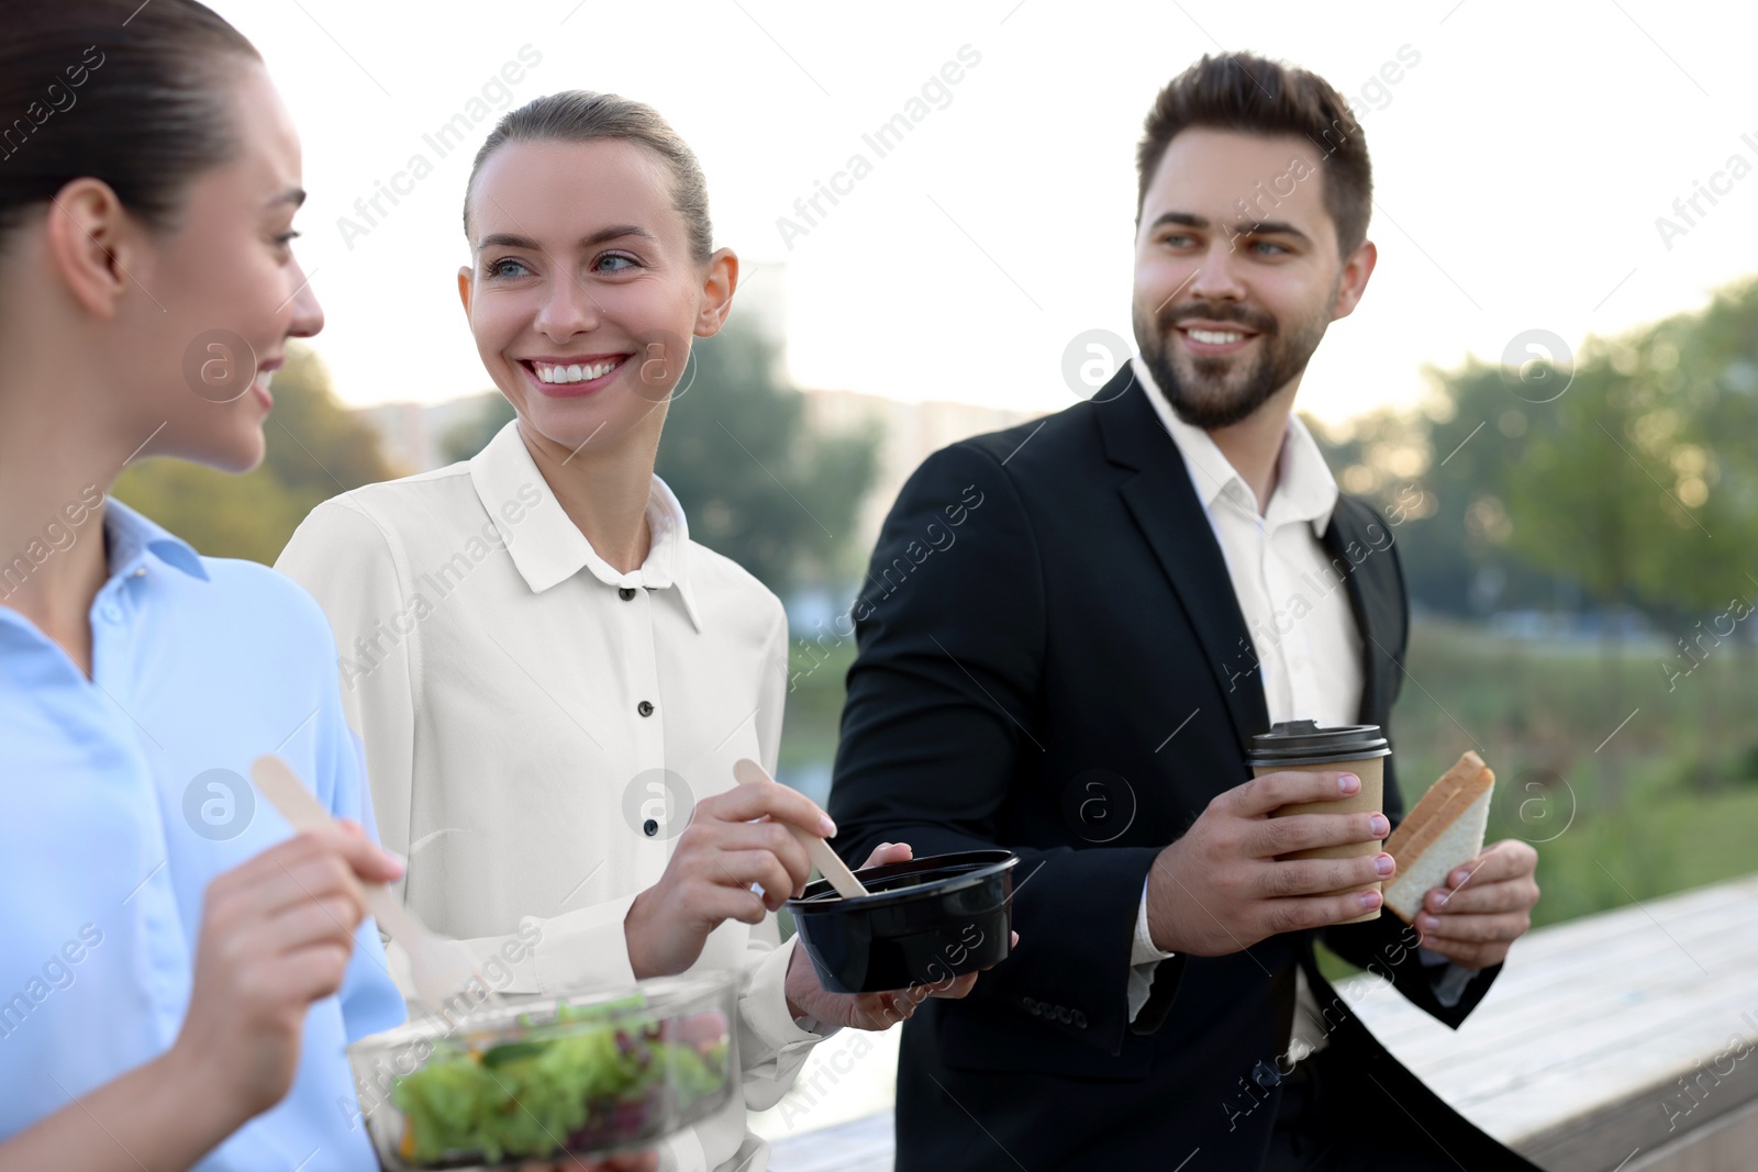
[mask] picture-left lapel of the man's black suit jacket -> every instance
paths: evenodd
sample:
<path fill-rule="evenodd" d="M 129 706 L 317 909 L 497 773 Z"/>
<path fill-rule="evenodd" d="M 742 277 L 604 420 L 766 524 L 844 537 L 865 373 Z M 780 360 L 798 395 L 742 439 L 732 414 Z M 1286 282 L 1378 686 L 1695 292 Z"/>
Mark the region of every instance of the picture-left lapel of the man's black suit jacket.
<path fill-rule="evenodd" d="M 1269 731 L 1269 706 L 1227 561 L 1190 483 L 1183 453 L 1129 365 L 1093 395 L 1093 409 L 1106 455 L 1136 473 L 1118 490 L 1202 643 L 1202 657 L 1243 752 L 1253 734 Z"/>

